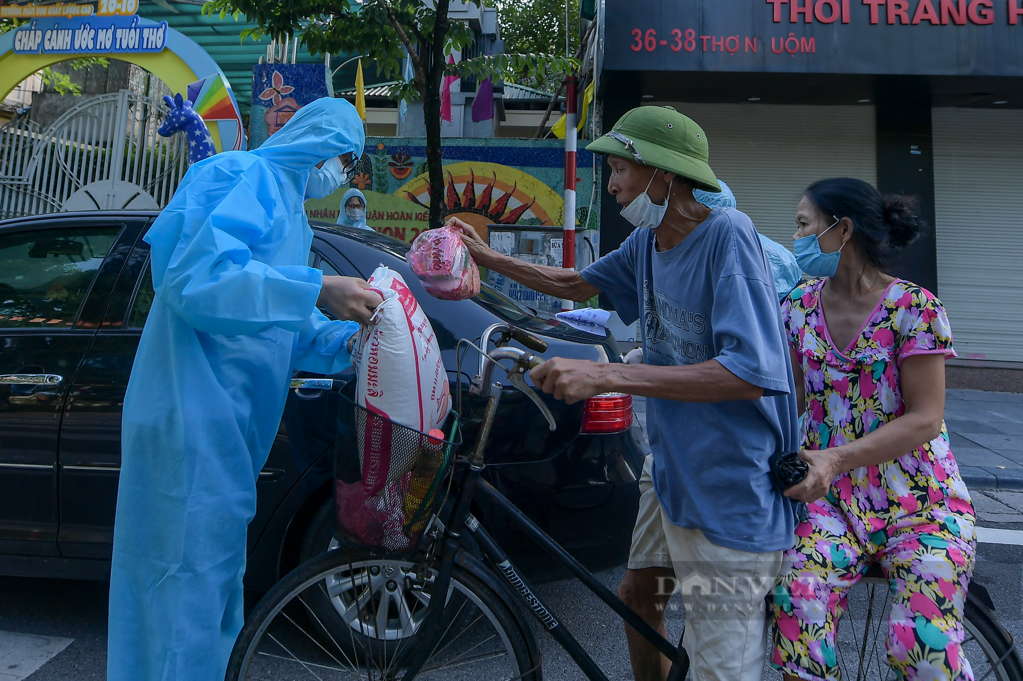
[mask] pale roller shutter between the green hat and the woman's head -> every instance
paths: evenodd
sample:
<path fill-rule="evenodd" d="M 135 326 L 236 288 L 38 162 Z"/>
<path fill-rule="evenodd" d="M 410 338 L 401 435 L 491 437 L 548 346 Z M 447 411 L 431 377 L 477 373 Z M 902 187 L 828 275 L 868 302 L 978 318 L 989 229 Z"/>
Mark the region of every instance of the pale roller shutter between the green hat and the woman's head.
<path fill-rule="evenodd" d="M 757 231 L 792 248 L 808 184 L 848 176 L 877 186 L 874 106 L 671 103 L 700 124 L 710 166 Z"/>

